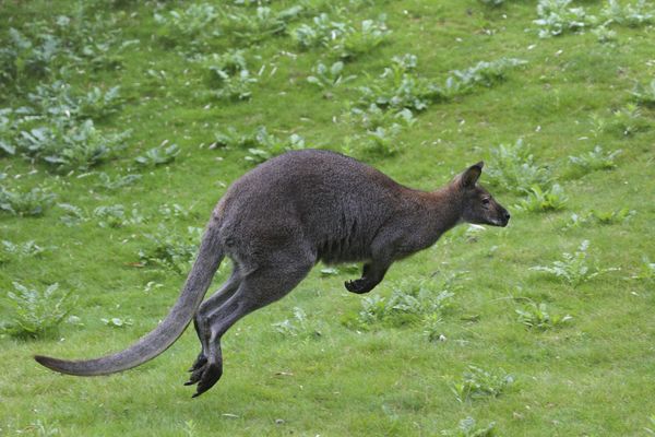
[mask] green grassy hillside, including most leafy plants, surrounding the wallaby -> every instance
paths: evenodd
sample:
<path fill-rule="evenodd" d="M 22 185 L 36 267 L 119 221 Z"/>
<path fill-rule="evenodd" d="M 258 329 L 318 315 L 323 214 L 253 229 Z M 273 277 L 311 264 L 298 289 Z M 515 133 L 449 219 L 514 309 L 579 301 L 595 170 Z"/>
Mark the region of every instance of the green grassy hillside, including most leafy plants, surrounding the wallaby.
<path fill-rule="evenodd" d="M 74 303 L 49 335 L 0 334 L 0 435 L 648 435 L 655 28 L 648 11 L 628 15 L 634 2 L 594 0 L 561 16 L 584 8 L 600 21 L 560 33 L 535 23 L 537 3 L 0 2 L 0 324 L 13 320 L 14 282 L 57 283 Z M 314 20 L 322 13 L 329 21 Z M 309 38 L 309 27 L 329 32 L 303 47 L 295 35 Z M 410 63 L 405 76 L 381 79 L 392 59 Z M 501 59 L 525 63 L 489 70 Z M 319 64 L 331 69 L 324 86 L 308 82 Z M 371 84 L 384 94 L 362 94 Z M 61 141 L 20 133 L 44 127 Z M 148 332 L 226 187 L 266 156 L 310 146 L 347 150 L 420 189 L 485 160 L 481 182 L 512 221 L 451 231 L 369 296 L 343 288 L 357 270 L 317 267 L 226 334 L 223 380 L 198 400 L 182 386 L 192 330 L 115 376 L 34 363 L 118 351 Z M 561 208 L 512 206 L 556 184 Z M 577 265 L 585 240 L 591 272 L 603 274 L 572 286 L 531 270 Z M 225 262 L 215 287 L 228 272 Z M 453 275 L 438 310 L 425 308 L 444 287 L 398 292 Z M 352 323 L 376 302 L 382 322 Z M 458 402 L 452 391 L 508 375 L 500 395 Z"/>

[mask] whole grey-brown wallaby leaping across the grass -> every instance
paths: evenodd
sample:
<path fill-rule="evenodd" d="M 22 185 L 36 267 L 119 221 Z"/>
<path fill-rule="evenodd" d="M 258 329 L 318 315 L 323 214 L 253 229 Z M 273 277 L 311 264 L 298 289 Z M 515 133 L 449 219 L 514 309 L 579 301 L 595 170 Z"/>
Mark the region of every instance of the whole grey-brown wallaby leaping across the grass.
<path fill-rule="evenodd" d="M 382 281 L 394 261 L 430 247 L 458 223 L 507 226 L 509 212 L 477 185 L 483 165 L 427 192 L 334 152 L 302 150 L 274 157 L 237 179 L 218 201 L 178 300 L 151 333 L 96 359 L 35 359 L 78 376 L 126 370 L 163 353 L 193 319 L 202 349 L 186 385 L 196 385 L 195 398 L 223 375 L 223 334 L 288 294 L 317 262 L 364 262 L 361 277 L 344 284 L 362 294 Z M 231 274 L 203 303 L 224 257 L 233 261 Z"/>

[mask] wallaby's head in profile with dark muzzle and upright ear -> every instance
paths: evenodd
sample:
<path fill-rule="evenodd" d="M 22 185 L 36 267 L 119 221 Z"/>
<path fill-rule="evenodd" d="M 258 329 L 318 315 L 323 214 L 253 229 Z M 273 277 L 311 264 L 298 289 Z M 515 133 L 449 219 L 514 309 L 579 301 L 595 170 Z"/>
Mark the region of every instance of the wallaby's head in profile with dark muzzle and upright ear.
<path fill-rule="evenodd" d="M 477 181 L 485 163 L 468 167 L 451 182 L 462 198 L 462 220 L 476 225 L 507 226 L 510 213 Z"/>

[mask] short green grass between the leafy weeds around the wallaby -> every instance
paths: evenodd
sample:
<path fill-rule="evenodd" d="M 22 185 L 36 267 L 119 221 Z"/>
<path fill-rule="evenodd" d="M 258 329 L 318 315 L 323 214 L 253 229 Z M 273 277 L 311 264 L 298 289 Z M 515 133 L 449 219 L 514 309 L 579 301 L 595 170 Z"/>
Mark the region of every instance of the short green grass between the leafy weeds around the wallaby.
<path fill-rule="evenodd" d="M 5 1 L 0 3 L 0 21 L 21 27 L 37 17 L 66 13 L 74 2 L 70 3 Z M 634 80 L 653 78 L 653 29 L 621 27 L 614 45 L 600 45 L 591 34 L 544 40 L 532 29 L 525 32 L 535 19 L 532 1 L 508 1 L 499 10 L 473 0 L 433 3 L 390 1 L 355 11 L 360 17 L 385 12 L 394 33 L 386 45 L 348 64 L 347 71 L 377 74 L 392 56 L 404 52 L 418 56 L 422 74 L 439 78 L 502 56 L 529 63 L 499 86 L 431 106 L 403 134 L 408 145 L 403 154 L 365 158 L 404 184 L 429 189 L 465 165 L 488 158 L 490 146 L 522 137 L 570 197 L 560 213 L 512 210 L 514 218 L 507 229 L 487 229 L 473 243 L 455 236 L 392 268 L 373 293 L 388 295 L 390 283 L 406 277 L 467 272 L 463 290 L 443 316 L 448 341 L 428 343 L 420 326 L 364 333 L 344 327 L 341 320 L 360 308 L 360 298 L 342 286 L 352 274 L 322 277 L 317 269 L 287 298 L 249 316 L 226 335 L 224 379 L 199 400 L 191 401 L 190 390 L 181 386 L 196 353 L 192 331 L 158 359 L 117 376 L 76 379 L 37 367 L 29 358 L 36 352 L 81 357 L 119 350 L 167 311 L 183 277 L 129 264 L 138 260 L 143 234 L 159 223 L 156 212 L 162 203 L 193 205 L 190 217 L 168 222 L 169 226 L 203 226 L 224 184 L 247 170 L 242 151 L 199 147 L 213 141 L 213 132 L 227 126 L 265 125 L 277 134 L 298 132 L 310 144 L 335 149 L 352 132 L 345 123 L 332 122 L 352 90 L 335 91 L 334 98 L 324 99 L 305 83 L 320 52 L 299 54 L 293 60 L 279 55 L 283 49 L 298 51 L 288 37 L 269 39 L 253 51 L 261 55 L 261 62 L 276 64 L 276 74 L 254 87 L 249 103 L 212 102 L 194 95 L 207 86 L 203 73 L 151 37 L 156 32 L 152 4 L 127 7 L 126 12 L 112 9 L 111 13 L 122 14 L 124 38 L 139 38 L 141 44 L 123 54 L 120 71 L 75 79 L 81 88 L 120 84 L 128 97 L 122 111 L 104 127 L 133 129 L 131 146 L 102 170 L 124 174 L 133 167 L 134 156 L 164 140 L 178 143 L 182 154 L 170 166 L 145 172 L 135 186 L 114 193 L 94 190 L 90 179 L 55 178 L 41 166 L 34 167 L 38 170 L 34 175 L 3 181 L 10 187 L 47 182 L 62 202 L 90 209 L 135 204 L 154 217 L 147 224 L 107 229 L 94 223 L 63 226 L 57 209 L 40 218 L 0 216 L 3 239 L 34 239 L 57 247 L 41 259 L 1 264 L 0 285 L 10 290 L 12 281 L 59 282 L 78 296 L 73 314 L 85 324 L 64 324 L 61 341 L 0 338 L 4 370 L 0 433 L 37 433 L 31 424 L 40 421 L 61 435 L 183 435 L 194 428 L 195 435 L 428 436 L 471 415 L 483 424 L 496 421 L 499 434 L 508 436 L 644 434 L 655 413 L 655 299 L 652 283 L 624 277 L 638 271 L 642 256 L 655 258 L 647 238 L 655 217 L 655 131 L 632 138 L 603 133 L 596 141 L 581 138 L 591 137 L 592 115 L 608 117 L 609 110 L 628 102 L 626 91 Z M 599 2 L 584 4 L 597 8 Z M 145 76 L 147 69 L 165 70 L 168 79 L 156 83 Z M 355 84 L 362 83 L 360 74 Z M 644 114 L 653 118 L 652 111 Z M 568 156 L 588 151 L 596 142 L 624 151 L 618 168 L 567 177 Z M 2 168 L 9 175 L 24 175 L 33 167 L 19 158 L 3 158 Z M 517 201 L 503 192 L 497 198 L 510 206 Z M 562 221 L 572 212 L 623 206 L 636 211 L 626 224 L 561 232 Z M 592 257 L 600 265 L 621 271 L 573 290 L 528 270 L 559 259 L 583 239 L 592 241 Z M 498 249 L 490 252 L 495 246 Z M 146 294 L 148 281 L 164 286 Z M 574 319 L 569 327 L 543 333 L 526 330 L 516 321 L 514 309 L 521 300 L 513 296 L 547 302 Z M 320 324 L 321 338 L 285 338 L 274 331 L 271 324 L 291 317 L 294 307 Z M 467 321 L 472 315 L 477 316 L 475 321 Z M 131 318 L 134 324 L 111 329 L 100 321 L 107 316 Z M 497 399 L 458 403 L 446 380 L 471 364 L 504 369 L 516 383 Z M 278 418 L 284 423 L 275 424 Z"/>

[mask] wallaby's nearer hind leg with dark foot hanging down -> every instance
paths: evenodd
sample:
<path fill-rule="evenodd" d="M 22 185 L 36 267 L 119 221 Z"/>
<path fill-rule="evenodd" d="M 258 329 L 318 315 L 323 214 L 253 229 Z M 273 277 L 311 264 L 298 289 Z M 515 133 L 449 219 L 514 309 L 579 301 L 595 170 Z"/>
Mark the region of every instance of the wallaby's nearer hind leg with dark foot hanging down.
<path fill-rule="evenodd" d="M 206 314 L 201 323 L 210 327 L 206 362 L 196 368 L 187 385 L 198 382 L 193 397 L 211 389 L 223 375 L 223 354 L 221 338 L 240 318 L 262 308 L 289 293 L 311 270 L 315 259 L 296 260 L 295 263 L 285 260 L 279 267 L 260 268 L 239 284 L 237 292 L 222 306 Z M 209 309 L 209 308 L 205 308 Z"/>

